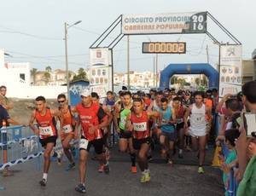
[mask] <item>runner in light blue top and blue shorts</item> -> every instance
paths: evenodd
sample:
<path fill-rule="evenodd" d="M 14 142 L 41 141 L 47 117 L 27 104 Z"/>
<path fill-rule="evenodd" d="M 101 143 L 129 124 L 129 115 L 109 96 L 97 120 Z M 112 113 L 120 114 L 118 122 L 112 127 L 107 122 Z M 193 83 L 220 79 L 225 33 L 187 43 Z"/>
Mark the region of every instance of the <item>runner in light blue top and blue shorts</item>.
<path fill-rule="evenodd" d="M 175 112 L 172 110 L 172 107 L 168 106 L 168 100 L 162 98 L 159 124 L 161 153 L 162 157 L 166 159 L 166 162 L 171 165 L 174 144 L 177 140 L 177 132 L 174 124 L 176 124 Z"/>

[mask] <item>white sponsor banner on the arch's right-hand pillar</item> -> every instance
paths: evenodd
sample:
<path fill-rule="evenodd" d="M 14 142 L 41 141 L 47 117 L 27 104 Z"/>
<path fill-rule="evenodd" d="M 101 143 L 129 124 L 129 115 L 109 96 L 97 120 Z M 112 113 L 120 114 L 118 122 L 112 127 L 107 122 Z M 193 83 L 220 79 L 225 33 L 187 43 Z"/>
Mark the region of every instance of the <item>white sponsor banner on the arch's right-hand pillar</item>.
<path fill-rule="evenodd" d="M 220 46 L 219 96 L 241 91 L 241 45 Z"/>

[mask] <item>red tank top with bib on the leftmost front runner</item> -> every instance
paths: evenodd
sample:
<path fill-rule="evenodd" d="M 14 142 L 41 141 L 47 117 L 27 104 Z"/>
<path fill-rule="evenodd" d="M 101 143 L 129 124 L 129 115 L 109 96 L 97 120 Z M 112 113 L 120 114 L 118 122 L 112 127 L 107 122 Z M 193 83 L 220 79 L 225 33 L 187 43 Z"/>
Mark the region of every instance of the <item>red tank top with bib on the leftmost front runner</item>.
<path fill-rule="evenodd" d="M 57 135 L 53 116 L 51 115 L 49 108 L 46 108 L 46 112 L 45 112 L 44 116 L 42 116 L 40 114 L 40 112 L 38 112 L 38 110 L 36 110 L 35 118 L 38 123 L 40 139 L 46 139 L 49 136 Z"/>

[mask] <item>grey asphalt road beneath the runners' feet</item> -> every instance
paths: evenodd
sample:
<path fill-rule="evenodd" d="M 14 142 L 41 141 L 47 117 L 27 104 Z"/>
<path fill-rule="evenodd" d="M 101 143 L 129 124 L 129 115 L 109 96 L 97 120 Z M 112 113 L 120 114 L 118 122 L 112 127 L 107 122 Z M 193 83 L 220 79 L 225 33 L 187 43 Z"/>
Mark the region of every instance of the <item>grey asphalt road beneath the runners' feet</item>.
<path fill-rule="evenodd" d="M 207 152 L 205 174 L 197 173 L 197 159 L 195 153 L 184 153 L 184 159 L 174 159 L 170 167 L 160 159 L 158 152 L 154 154 L 153 163 L 149 164 L 151 182 L 141 184 L 140 172 L 131 174 L 129 158 L 117 150 L 112 151 L 110 160 L 111 171 L 109 175 L 97 172 L 98 164 L 90 160 L 86 175 L 86 195 L 90 196 L 165 196 L 165 195 L 195 195 L 218 196 L 224 195 L 221 173 L 209 164 L 212 151 Z M 0 191 L 2 196 L 64 196 L 82 195 L 76 193 L 74 187 L 78 183 L 78 167 L 66 171 L 67 162 L 62 165 L 53 162 L 50 166 L 48 183 L 40 187 L 38 182 L 42 178 L 42 171 L 37 170 L 36 161 L 19 164 L 12 168 L 15 176 L 0 176 L 0 186 L 5 190 Z"/>

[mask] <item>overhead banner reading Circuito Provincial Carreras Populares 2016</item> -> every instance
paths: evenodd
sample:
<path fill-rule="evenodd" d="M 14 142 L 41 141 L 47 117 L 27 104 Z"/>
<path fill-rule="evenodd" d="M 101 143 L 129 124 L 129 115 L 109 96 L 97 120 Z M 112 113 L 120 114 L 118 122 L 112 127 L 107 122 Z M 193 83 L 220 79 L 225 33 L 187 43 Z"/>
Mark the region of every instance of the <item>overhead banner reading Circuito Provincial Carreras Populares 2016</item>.
<path fill-rule="evenodd" d="M 207 32 L 207 12 L 125 14 L 122 16 L 123 34 L 204 32 Z"/>

